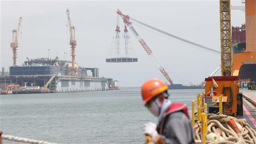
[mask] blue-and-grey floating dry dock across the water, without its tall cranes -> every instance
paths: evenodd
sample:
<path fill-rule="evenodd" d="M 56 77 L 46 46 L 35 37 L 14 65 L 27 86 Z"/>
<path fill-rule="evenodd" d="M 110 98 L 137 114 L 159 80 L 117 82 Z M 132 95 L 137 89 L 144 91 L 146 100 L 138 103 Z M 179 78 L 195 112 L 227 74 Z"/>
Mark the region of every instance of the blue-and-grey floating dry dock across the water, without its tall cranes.
<path fill-rule="evenodd" d="M 79 67 L 75 63 L 76 71 L 70 69 L 71 61 L 38 58 L 27 59 L 21 66 L 11 66 L 10 74 L 1 77 L 0 85 L 8 87 L 9 84 L 20 85 L 20 90 L 14 93 L 25 93 L 22 87 L 39 86 L 38 93 L 76 92 L 76 91 L 105 91 L 119 89 L 118 83 L 111 78 L 99 77 L 99 69 Z"/>

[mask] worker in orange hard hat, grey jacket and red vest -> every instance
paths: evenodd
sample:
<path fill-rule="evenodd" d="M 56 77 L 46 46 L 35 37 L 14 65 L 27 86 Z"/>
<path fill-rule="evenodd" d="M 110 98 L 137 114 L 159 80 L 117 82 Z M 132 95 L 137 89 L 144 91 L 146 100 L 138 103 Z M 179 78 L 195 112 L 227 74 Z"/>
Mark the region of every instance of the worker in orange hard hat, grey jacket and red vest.
<path fill-rule="evenodd" d="M 159 119 L 158 126 L 152 122 L 144 124 L 144 134 L 151 136 L 150 144 L 193 144 L 194 128 L 188 107 L 183 103 L 172 103 L 167 90 L 159 79 L 150 79 L 142 85 L 143 102 Z"/>

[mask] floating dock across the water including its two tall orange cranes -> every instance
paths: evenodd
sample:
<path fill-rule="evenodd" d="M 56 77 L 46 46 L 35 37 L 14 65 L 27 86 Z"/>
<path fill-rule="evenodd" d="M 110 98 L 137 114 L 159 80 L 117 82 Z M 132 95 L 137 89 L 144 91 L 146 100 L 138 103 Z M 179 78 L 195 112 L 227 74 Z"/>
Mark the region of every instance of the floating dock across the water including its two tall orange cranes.
<path fill-rule="evenodd" d="M 72 61 L 47 58 L 29 59 L 22 65 L 16 65 L 18 39 L 21 30 L 22 17 L 19 19 L 17 29 L 12 30 L 13 66 L 9 67 L 6 75 L 2 67 L 0 80 L 1 94 L 21 93 L 55 93 L 79 91 L 105 91 L 120 89 L 118 81 L 111 78 L 99 77 L 99 68 L 79 67 L 75 63 L 75 27 L 71 25 L 69 10 L 66 10 L 70 30 L 70 45 Z M 91 71 L 92 75 L 88 75 Z M 116 85 L 115 85 L 116 84 Z"/>

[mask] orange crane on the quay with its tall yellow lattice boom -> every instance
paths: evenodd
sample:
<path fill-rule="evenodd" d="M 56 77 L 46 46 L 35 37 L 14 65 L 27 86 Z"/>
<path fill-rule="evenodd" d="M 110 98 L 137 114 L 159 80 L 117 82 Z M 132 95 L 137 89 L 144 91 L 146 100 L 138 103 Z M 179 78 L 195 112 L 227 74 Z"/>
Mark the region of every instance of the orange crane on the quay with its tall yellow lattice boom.
<path fill-rule="evenodd" d="M 208 112 L 218 112 L 218 103 L 212 105 L 219 96 L 223 96 L 223 110 L 227 115 L 243 115 L 242 94 L 239 93 L 238 76 L 233 76 L 232 43 L 231 43 L 231 15 L 230 0 L 220 0 L 220 53 L 221 76 L 205 79 L 205 93 L 202 103 L 207 103 Z M 205 100 L 212 99 L 212 101 Z M 217 101 L 218 102 L 218 101 Z"/>

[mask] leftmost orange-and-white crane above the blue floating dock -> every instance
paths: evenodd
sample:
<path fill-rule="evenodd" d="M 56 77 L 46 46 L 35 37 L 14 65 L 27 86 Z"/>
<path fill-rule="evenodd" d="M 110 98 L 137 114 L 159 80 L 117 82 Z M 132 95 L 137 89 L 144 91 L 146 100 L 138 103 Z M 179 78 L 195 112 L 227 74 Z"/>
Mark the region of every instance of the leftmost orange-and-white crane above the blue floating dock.
<path fill-rule="evenodd" d="M 21 21 L 22 21 L 22 17 L 20 17 L 20 19 L 19 19 L 18 27 L 16 29 L 12 30 L 11 47 L 12 47 L 12 51 L 13 51 L 13 66 L 16 66 L 17 47 L 18 47 L 19 34 L 20 34 L 20 30 L 21 30 Z"/>

